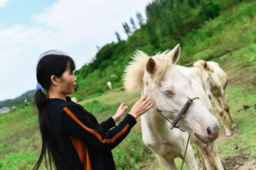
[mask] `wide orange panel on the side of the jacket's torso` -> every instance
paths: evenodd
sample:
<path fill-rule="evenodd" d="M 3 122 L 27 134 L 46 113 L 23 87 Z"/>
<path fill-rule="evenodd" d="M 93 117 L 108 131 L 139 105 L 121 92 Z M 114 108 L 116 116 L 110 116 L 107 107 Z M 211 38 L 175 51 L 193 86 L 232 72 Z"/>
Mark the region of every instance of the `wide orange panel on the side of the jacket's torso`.
<path fill-rule="evenodd" d="M 92 170 L 92 166 L 90 164 L 90 159 L 89 155 L 87 152 L 87 147 L 85 145 L 85 142 L 82 142 L 76 137 L 70 136 L 70 139 L 73 142 L 73 145 L 78 152 L 78 155 L 80 157 L 80 160 L 82 162 L 82 166 L 84 167 L 85 170 Z"/>

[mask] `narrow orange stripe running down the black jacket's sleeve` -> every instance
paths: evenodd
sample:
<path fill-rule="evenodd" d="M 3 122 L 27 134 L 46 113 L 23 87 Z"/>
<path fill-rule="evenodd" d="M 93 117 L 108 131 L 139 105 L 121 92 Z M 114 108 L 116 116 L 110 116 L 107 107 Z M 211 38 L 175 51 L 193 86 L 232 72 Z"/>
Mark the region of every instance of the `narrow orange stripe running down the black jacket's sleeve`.
<path fill-rule="evenodd" d="M 102 139 L 102 136 L 97 133 L 95 130 L 92 130 L 90 128 L 87 128 L 84 124 L 81 123 L 81 121 L 67 108 L 63 108 L 63 110 L 68 113 L 68 115 L 70 115 L 71 118 L 73 118 L 73 120 L 75 120 L 80 126 L 82 126 L 82 128 L 84 128 L 85 130 L 87 130 L 88 132 L 92 133 L 92 135 L 95 135 L 95 137 L 97 137 L 102 143 L 110 143 L 110 142 L 114 142 L 118 137 L 120 137 L 122 134 L 124 134 L 124 132 L 126 132 L 129 128 L 129 124 L 127 124 L 123 130 L 121 130 L 119 133 L 117 133 L 117 135 L 115 135 L 114 137 L 112 137 L 111 139 Z"/>

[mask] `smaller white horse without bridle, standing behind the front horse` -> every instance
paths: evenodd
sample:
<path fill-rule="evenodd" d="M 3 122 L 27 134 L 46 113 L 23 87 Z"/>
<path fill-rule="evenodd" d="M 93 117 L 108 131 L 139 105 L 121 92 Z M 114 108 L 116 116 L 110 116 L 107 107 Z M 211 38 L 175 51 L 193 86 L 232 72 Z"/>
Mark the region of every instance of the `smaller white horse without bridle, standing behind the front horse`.
<path fill-rule="evenodd" d="M 223 120 L 225 135 L 231 136 L 232 134 L 225 121 L 223 110 L 228 113 L 228 117 L 230 119 L 233 130 L 237 130 L 237 124 L 235 123 L 233 116 L 230 114 L 227 98 L 225 97 L 225 87 L 228 84 L 227 74 L 225 74 L 225 72 L 223 71 L 223 69 L 220 68 L 217 62 L 206 62 L 203 60 L 199 60 L 195 62 L 193 66 L 201 70 L 203 75 L 203 81 L 206 84 L 207 88 L 210 89 L 213 102 L 215 103 L 215 106 L 217 108 L 217 112 Z"/>

